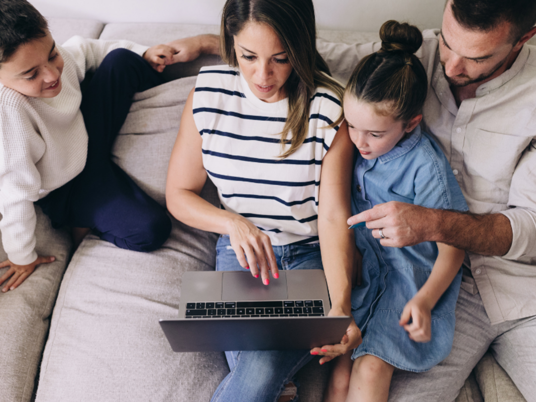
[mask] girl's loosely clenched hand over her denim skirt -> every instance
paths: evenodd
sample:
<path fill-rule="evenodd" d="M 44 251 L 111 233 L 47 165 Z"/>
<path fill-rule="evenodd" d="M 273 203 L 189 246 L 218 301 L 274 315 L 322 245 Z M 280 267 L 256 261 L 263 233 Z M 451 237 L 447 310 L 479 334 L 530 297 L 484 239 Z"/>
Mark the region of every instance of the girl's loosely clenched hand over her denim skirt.
<path fill-rule="evenodd" d="M 412 323 L 408 324 L 410 318 Z M 428 342 L 431 339 L 431 308 L 425 300 L 413 297 L 406 303 L 399 324 L 404 326 L 411 340 Z"/>

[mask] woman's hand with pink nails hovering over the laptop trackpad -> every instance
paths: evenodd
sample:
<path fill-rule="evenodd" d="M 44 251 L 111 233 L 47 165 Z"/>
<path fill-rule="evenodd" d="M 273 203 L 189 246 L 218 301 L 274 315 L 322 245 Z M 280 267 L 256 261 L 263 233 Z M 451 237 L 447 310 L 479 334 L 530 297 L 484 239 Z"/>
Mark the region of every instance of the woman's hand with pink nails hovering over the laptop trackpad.
<path fill-rule="evenodd" d="M 250 269 L 255 278 L 258 278 L 260 270 L 260 278 L 264 285 L 270 284 L 269 271 L 272 271 L 274 278 L 279 278 L 270 237 L 239 215 L 230 222 L 228 232 L 231 247 L 240 266 Z"/>

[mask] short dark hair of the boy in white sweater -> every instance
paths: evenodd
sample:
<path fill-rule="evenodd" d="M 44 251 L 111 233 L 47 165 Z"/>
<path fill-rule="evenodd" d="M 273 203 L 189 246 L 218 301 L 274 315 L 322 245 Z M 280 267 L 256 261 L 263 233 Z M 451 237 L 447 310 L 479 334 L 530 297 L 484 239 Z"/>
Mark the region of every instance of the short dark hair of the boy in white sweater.
<path fill-rule="evenodd" d="M 0 0 L 0 63 L 8 61 L 21 44 L 47 33 L 47 20 L 26 0 Z"/>

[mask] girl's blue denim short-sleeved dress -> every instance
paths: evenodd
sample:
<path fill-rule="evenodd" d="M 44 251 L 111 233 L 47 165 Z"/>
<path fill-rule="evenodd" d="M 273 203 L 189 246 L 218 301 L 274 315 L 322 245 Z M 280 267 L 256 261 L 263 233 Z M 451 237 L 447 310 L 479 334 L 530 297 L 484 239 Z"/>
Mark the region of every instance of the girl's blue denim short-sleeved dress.
<path fill-rule="evenodd" d="M 391 151 L 354 165 L 352 213 L 400 201 L 435 209 L 467 211 L 445 155 L 418 126 Z M 454 337 L 461 267 L 431 311 L 431 340 L 418 343 L 398 322 L 404 306 L 428 279 L 437 258 L 435 242 L 383 247 L 371 230 L 355 228 L 363 255 L 362 284 L 352 292 L 352 314 L 363 335 L 352 359 L 370 354 L 408 371 L 426 371 L 448 356 Z"/>

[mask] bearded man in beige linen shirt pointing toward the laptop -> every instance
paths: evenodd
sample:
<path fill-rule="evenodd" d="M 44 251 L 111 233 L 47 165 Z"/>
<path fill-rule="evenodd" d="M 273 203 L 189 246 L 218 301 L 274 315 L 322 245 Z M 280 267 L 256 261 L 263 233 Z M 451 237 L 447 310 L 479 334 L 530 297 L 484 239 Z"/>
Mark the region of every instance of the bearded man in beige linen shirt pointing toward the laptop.
<path fill-rule="evenodd" d="M 441 30 L 423 33 L 423 129 L 449 159 L 470 213 L 393 202 L 348 220 L 366 221 L 386 246 L 438 241 L 467 251 L 450 356 L 426 373 L 395 371 L 389 400 L 454 400 L 490 348 L 536 401 L 536 47 L 525 44 L 535 23 L 534 0 L 448 0 Z M 317 45 L 343 82 L 380 47 Z"/>

